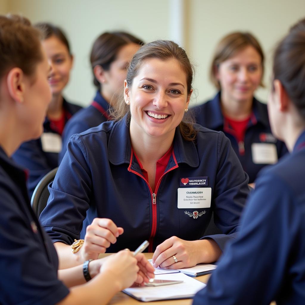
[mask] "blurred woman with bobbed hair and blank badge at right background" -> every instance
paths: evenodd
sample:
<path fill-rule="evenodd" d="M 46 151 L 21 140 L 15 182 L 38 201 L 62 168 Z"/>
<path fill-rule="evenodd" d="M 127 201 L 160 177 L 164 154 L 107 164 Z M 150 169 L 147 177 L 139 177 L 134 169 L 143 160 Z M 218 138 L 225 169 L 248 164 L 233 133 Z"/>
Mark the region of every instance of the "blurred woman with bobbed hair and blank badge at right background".
<path fill-rule="evenodd" d="M 218 43 L 210 78 L 219 90 L 213 100 L 193 109 L 196 122 L 223 131 L 253 183 L 257 173 L 287 152 L 271 134 L 267 105 L 253 95 L 262 86 L 264 53 L 250 33 L 231 33 Z"/>

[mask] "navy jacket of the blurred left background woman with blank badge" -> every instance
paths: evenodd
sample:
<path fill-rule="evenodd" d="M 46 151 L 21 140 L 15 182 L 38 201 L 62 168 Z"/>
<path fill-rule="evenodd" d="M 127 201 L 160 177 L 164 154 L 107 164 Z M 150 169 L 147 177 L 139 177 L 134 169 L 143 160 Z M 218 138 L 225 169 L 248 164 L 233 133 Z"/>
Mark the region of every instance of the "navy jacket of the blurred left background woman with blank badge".
<path fill-rule="evenodd" d="M 73 116 L 74 113 L 76 113 L 82 107 L 68 103 L 64 99 L 63 108 L 66 110 L 65 121 L 67 122 L 70 117 Z M 45 118 L 43 128 L 44 132 L 59 134 L 55 127 L 50 124 L 50 121 L 47 117 Z M 58 153 L 43 151 L 41 145 L 41 138 L 24 142 L 23 144 L 21 144 L 19 149 L 17 149 L 17 151 L 13 154 L 12 157 L 16 163 L 29 170 L 27 188 L 30 198 L 41 178 L 50 170 L 58 166 Z"/>

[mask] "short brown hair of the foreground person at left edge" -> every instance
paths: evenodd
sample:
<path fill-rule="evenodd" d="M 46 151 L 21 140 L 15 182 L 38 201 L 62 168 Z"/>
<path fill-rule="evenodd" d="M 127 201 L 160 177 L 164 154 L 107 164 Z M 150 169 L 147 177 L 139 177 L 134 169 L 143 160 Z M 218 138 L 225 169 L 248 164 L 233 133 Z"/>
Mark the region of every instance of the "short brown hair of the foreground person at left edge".
<path fill-rule="evenodd" d="M 37 63 L 43 60 L 40 38 L 41 33 L 27 18 L 0 16 L 0 78 L 13 67 L 33 75 Z"/>

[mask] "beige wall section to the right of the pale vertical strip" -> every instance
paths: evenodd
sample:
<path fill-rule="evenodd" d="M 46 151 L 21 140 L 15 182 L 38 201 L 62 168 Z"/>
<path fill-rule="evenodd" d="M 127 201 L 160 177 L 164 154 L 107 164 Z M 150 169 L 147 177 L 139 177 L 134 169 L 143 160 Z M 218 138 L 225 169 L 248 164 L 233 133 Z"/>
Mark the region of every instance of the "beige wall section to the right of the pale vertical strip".
<path fill-rule="evenodd" d="M 260 41 L 266 54 L 264 75 L 266 89 L 259 89 L 257 97 L 267 100 L 271 53 L 276 42 L 288 28 L 305 17 L 304 0 L 191 0 L 190 1 L 189 55 L 197 66 L 194 88 L 198 103 L 215 94 L 209 82 L 210 60 L 215 45 L 225 34 L 250 31 Z"/>

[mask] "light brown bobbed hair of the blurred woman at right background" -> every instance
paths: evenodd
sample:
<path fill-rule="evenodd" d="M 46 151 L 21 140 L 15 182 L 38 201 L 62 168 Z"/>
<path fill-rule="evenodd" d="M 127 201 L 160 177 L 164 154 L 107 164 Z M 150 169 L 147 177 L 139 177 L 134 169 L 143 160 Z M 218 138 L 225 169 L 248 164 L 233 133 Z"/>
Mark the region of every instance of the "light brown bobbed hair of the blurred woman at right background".
<path fill-rule="evenodd" d="M 224 36 L 216 46 L 212 64 L 210 67 L 210 80 L 215 87 L 220 90 L 220 84 L 216 76 L 216 71 L 222 62 L 234 56 L 237 52 L 242 51 L 244 48 L 251 46 L 255 48 L 262 60 L 262 69 L 264 75 L 264 52 L 258 40 L 248 32 L 234 32 Z M 263 77 L 260 81 L 260 86 L 264 87 Z"/>

